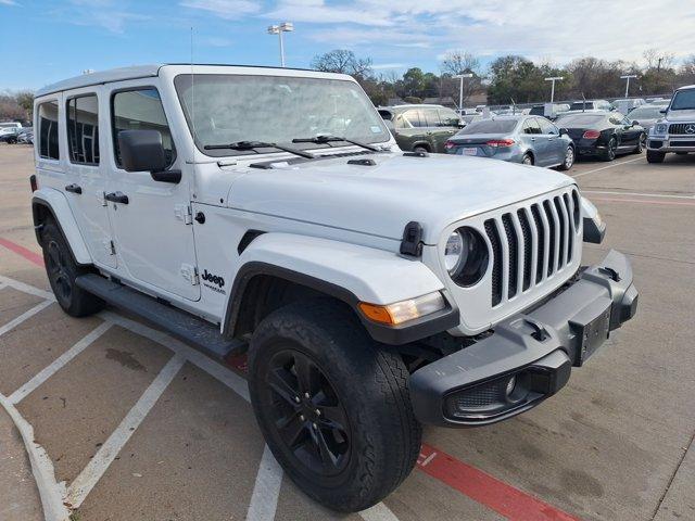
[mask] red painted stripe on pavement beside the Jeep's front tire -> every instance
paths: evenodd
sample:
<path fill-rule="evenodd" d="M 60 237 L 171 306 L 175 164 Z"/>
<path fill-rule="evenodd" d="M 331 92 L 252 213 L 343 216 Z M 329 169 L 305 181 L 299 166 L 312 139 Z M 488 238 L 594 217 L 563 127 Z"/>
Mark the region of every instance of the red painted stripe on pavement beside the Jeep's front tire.
<path fill-rule="evenodd" d="M 579 521 L 448 454 L 422 444 L 419 469 L 510 521 Z"/>

